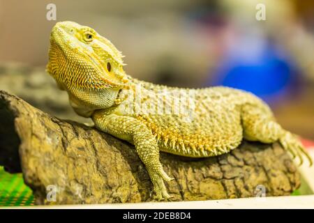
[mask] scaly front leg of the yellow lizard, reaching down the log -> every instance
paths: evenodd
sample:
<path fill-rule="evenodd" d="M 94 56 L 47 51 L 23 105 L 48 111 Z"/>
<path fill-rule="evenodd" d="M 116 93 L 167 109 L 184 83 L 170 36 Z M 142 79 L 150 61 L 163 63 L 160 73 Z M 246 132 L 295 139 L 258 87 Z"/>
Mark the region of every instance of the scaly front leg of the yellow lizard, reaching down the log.
<path fill-rule="evenodd" d="M 157 199 L 170 198 L 163 180 L 169 181 L 172 178 L 163 171 L 157 141 L 147 125 L 128 116 L 106 115 L 102 110 L 96 111 L 92 118 L 99 130 L 135 145 L 137 155 L 144 163 L 154 185 Z"/>

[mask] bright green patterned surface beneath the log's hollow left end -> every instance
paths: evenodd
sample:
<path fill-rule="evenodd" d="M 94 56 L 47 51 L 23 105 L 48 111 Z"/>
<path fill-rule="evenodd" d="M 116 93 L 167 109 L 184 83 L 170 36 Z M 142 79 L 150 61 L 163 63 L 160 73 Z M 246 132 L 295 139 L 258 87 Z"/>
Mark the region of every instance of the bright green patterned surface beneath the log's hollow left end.
<path fill-rule="evenodd" d="M 31 206 L 33 193 L 22 174 L 8 174 L 0 167 L 0 206 Z"/>

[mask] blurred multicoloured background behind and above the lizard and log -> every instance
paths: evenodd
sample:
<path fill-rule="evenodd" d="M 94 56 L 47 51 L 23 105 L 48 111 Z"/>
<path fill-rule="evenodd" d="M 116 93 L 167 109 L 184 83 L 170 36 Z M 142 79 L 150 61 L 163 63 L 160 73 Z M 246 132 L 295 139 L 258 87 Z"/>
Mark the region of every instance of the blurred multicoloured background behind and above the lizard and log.
<path fill-rule="evenodd" d="M 57 6 L 57 21 L 46 19 L 49 3 Z M 266 20 L 258 20 L 258 3 Z M 133 77 L 251 91 L 284 128 L 314 139 L 314 1 L 0 0 L 0 89 L 55 116 L 86 121 L 45 74 L 50 31 L 63 20 L 110 39 Z"/>

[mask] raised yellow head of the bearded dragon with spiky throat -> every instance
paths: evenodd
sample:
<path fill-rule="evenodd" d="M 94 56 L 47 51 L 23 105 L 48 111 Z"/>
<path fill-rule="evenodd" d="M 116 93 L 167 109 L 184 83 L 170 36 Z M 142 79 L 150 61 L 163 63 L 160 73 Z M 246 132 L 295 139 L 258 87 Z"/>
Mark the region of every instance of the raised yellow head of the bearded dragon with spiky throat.
<path fill-rule="evenodd" d="M 123 89 L 127 77 L 122 54 L 94 29 L 58 22 L 50 36 L 47 72 L 61 89 Z"/>

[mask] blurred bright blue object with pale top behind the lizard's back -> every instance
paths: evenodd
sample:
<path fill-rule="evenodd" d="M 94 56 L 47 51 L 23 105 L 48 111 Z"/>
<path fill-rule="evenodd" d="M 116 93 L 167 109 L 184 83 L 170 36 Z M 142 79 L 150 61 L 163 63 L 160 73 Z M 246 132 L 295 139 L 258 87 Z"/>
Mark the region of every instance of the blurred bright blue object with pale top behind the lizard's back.
<path fill-rule="evenodd" d="M 290 60 L 267 40 L 244 39 L 227 52 L 214 85 L 250 91 L 271 102 L 287 94 L 296 73 Z"/>

